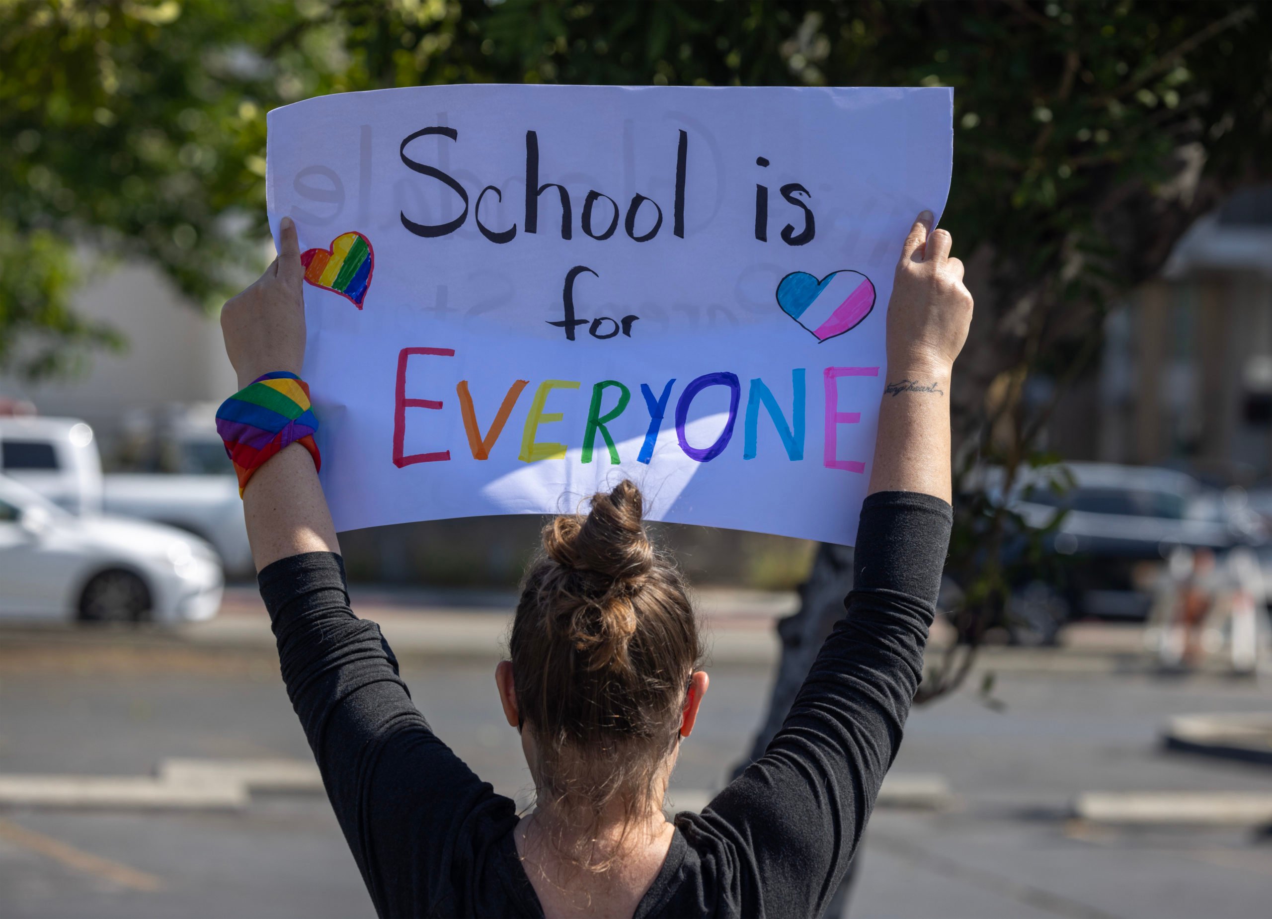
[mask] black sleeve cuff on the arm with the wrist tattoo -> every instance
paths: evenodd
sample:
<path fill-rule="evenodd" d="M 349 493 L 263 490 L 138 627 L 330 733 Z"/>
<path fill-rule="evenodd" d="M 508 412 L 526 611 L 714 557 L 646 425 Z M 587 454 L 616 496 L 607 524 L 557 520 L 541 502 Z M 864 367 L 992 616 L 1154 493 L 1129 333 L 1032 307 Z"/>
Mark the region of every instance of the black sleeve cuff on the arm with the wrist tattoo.
<path fill-rule="evenodd" d="M 920 491 L 876 491 L 861 505 L 855 591 L 899 591 L 935 606 L 954 509 Z"/>

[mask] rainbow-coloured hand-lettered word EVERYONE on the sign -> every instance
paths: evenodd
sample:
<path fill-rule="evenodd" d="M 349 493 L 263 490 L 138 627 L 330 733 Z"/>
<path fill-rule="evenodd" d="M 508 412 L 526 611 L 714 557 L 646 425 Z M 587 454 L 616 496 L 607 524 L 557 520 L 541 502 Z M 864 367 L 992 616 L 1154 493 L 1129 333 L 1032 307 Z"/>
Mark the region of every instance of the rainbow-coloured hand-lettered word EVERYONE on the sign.
<path fill-rule="evenodd" d="M 398 353 L 397 386 L 393 400 L 393 465 L 398 468 L 426 462 L 446 462 L 450 460 L 450 451 L 435 451 L 430 453 L 406 453 L 406 411 L 407 409 L 443 409 L 441 400 L 407 397 L 406 377 L 407 365 L 412 356 L 432 355 L 439 358 L 453 358 L 454 349 L 450 347 L 403 347 Z M 787 460 L 800 461 L 804 458 L 805 440 L 805 370 L 796 368 L 791 370 L 792 405 L 787 415 L 778 405 L 777 398 L 764 383 L 756 377 L 749 382 L 747 389 L 747 409 L 743 420 L 743 460 L 754 460 L 757 456 L 759 409 L 763 407 L 781 438 Z M 840 460 L 837 457 L 837 434 L 840 425 L 857 424 L 861 421 L 861 412 L 840 411 L 838 409 L 838 381 L 841 377 L 878 377 L 878 367 L 827 367 L 822 372 L 823 388 L 826 393 L 824 444 L 822 465 L 827 468 L 845 470 L 848 472 L 865 472 L 865 463 L 856 460 Z M 495 419 L 483 434 L 477 423 L 477 411 L 473 406 L 472 393 L 468 389 L 468 381 L 462 379 L 455 386 L 455 396 L 459 401 L 459 411 L 463 416 L 464 433 L 468 435 L 468 448 L 473 460 L 488 460 L 490 452 L 499 440 L 504 426 L 508 424 L 513 409 L 522 397 L 522 392 L 529 386 L 529 381 L 518 379 L 508 388 Z M 543 460 L 563 460 L 566 445 L 563 443 L 541 442 L 538 439 L 539 425 L 552 424 L 565 420 L 565 414 L 547 411 L 547 400 L 553 389 L 577 389 L 581 383 L 574 379 L 544 379 L 538 384 L 522 428 L 522 448 L 518 458 L 523 462 L 539 462 Z M 649 414 L 649 428 L 641 444 L 637 462 L 649 463 L 654 458 L 654 447 L 658 435 L 663 429 L 663 421 L 672 403 L 672 391 L 675 387 L 675 378 L 663 384 L 659 395 L 649 383 L 641 383 L 640 391 L 645 400 L 645 409 Z M 686 425 L 689 419 L 689 410 L 693 400 L 705 389 L 711 387 L 725 387 L 729 392 L 729 416 L 724 429 L 715 442 L 702 447 L 693 445 L 686 437 Z M 613 389 L 617 398 L 608 409 L 604 407 L 607 391 Z M 617 379 L 605 379 L 591 387 L 591 402 L 588 407 L 588 417 L 584 424 L 583 449 L 580 461 L 590 463 L 595 452 L 597 435 L 604 440 L 611 463 L 621 463 L 618 447 L 609 433 L 608 425 L 613 424 L 631 402 L 631 389 Z M 675 400 L 673 414 L 675 438 L 681 449 L 687 457 L 697 462 L 710 462 L 724 453 L 733 439 L 738 409 L 742 403 L 742 381 L 735 373 L 719 372 L 707 373 L 689 381 Z"/>

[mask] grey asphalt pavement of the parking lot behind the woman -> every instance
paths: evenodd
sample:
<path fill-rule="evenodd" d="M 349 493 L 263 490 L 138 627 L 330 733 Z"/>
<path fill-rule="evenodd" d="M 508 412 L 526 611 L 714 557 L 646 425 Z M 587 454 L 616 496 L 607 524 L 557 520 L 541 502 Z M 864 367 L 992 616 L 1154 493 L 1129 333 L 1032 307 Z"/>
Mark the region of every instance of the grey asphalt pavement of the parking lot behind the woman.
<path fill-rule="evenodd" d="M 749 630 L 756 647 L 771 640 L 753 612 L 733 625 L 721 614 L 717 635 Z M 224 622 L 234 615 L 253 614 Z M 421 622 L 412 628 L 426 638 Z M 935 810 L 876 810 L 852 916 L 1267 915 L 1272 838 L 1249 826 L 1103 825 L 1075 817 L 1074 799 L 1272 792 L 1267 766 L 1161 745 L 1172 717 L 1266 713 L 1272 692 L 1252 681 L 1056 663 L 1066 653 L 1086 659 L 1060 652 L 1046 658 L 1051 666 L 1002 667 L 993 706 L 973 681 L 913 713 L 893 774 L 939 776 L 951 797 Z M 682 806 L 720 788 L 766 700 L 768 662 L 722 657 L 673 778 Z M 403 657 L 403 676 L 441 738 L 499 790 L 525 799 L 519 741 L 495 698 L 495 659 L 494 645 L 448 659 L 425 642 Z M 142 776 L 170 757 L 310 761 L 268 648 L 0 633 L 0 774 Z M 296 790 L 253 792 L 245 806 L 223 810 L 0 806 L 0 915 L 323 919 L 371 909 L 326 801 Z"/>

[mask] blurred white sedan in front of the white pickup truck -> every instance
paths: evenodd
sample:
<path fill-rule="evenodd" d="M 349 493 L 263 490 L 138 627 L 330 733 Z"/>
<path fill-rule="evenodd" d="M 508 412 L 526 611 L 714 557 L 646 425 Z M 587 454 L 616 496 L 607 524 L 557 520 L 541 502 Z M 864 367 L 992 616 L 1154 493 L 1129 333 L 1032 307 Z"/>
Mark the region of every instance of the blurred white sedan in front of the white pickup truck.
<path fill-rule="evenodd" d="M 223 586 L 216 552 L 197 536 L 75 517 L 0 476 L 0 617 L 205 620 L 220 610 Z"/>

